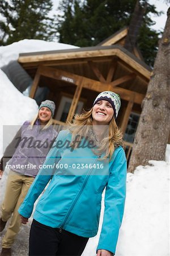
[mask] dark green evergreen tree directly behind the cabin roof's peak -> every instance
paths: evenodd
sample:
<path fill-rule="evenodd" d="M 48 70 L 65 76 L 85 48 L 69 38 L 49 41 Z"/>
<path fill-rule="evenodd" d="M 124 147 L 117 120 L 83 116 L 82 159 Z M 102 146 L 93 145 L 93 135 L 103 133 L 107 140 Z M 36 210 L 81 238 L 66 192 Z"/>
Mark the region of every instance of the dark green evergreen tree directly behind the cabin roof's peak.
<path fill-rule="evenodd" d="M 59 5 L 59 10 L 62 11 L 57 27 L 59 42 L 80 47 L 96 46 L 114 32 L 129 25 L 136 1 L 63 0 Z M 150 28 L 154 24 L 148 15 L 150 13 L 161 14 L 154 5 L 148 4 L 138 36 L 138 46 L 146 63 L 153 65 L 161 33 Z"/>

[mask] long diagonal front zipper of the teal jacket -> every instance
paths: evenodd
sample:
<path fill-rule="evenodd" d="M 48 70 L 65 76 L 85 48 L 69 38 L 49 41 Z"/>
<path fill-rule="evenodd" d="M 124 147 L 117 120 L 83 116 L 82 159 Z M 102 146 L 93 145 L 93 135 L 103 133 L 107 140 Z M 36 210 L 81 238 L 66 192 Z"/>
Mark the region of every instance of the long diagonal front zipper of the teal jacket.
<path fill-rule="evenodd" d="M 99 156 L 99 158 L 100 158 L 100 156 Z M 94 165 L 94 164 L 97 162 L 97 159 L 98 159 L 98 157 L 94 160 L 94 163 L 92 163 L 92 165 Z M 83 185 L 82 185 L 80 191 L 79 191 L 78 194 L 76 195 L 76 197 L 75 197 L 75 199 L 74 199 L 74 202 L 72 203 L 72 205 L 71 205 L 69 211 L 67 212 L 67 214 L 66 214 L 66 216 L 65 216 L 65 218 L 64 218 L 64 220 L 63 220 L 63 222 L 62 222 L 61 227 L 59 228 L 59 233 L 62 232 L 63 226 L 66 224 L 66 221 L 68 220 L 68 218 L 69 218 L 69 216 L 70 216 L 70 214 L 71 214 L 71 212 L 72 212 L 72 210 L 73 210 L 73 208 L 74 208 L 74 205 L 75 205 L 76 202 L 79 200 L 79 197 L 82 195 L 82 192 L 83 192 L 84 188 L 86 187 L 87 181 L 90 179 L 90 176 L 92 175 L 92 172 L 94 171 L 94 169 L 95 169 L 95 167 L 92 168 L 92 169 L 88 172 L 88 174 L 86 175 L 86 178 L 84 179 L 84 182 L 83 182 Z"/>

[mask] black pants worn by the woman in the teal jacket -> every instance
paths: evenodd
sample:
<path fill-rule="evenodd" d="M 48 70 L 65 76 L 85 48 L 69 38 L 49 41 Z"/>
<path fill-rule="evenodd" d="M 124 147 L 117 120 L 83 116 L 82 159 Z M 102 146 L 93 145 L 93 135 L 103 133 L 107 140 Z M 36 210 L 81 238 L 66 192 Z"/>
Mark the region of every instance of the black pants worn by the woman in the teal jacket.
<path fill-rule="evenodd" d="M 51 228 L 33 220 L 29 236 L 29 256 L 80 256 L 88 239 L 66 230 L 59 233 L 58 228 Z"/>

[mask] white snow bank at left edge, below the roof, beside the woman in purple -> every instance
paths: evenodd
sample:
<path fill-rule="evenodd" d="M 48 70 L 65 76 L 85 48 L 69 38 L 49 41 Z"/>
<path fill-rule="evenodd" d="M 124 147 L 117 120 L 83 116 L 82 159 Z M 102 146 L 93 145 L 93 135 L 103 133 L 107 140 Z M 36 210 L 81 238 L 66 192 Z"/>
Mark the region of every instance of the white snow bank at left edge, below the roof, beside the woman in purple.
<path fill-rule="evenodd" d="M 37 113 L 38 106 L 32 98 L 25 97 L 18 89 L 8 80 L 8 77 L 0 69 L 0 157 L 3 154 L 3 125 L 12 125 L 9 139 L 11 140 L 16 131 L 14 125 L 22 125 L 25 120 L 31 120 Z M 16 127 L 18 129 L 18 127 Z"/>

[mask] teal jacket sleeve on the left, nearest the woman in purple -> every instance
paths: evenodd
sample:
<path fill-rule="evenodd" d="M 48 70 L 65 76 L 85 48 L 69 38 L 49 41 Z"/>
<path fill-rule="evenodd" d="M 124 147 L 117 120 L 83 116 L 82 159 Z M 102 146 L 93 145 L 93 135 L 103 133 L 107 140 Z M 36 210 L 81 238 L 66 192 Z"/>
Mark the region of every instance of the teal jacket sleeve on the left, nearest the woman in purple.
<path fill-rule="evenodd" d="M 20 205 L 18 212 L 23 217 L 29 218 L 31 216 L 35 201 L 40 196 L 49 180 L 52 179 L 52 176 L 56 171 L 56 164 L 58 163 L 59 159 L 61 159 L 61 148 L 57 147 L 57 142 L 61 141 L 61 139 L 62 137 L 60 132 L 51 150 L 46 156 L 45 162 L 43 163 L 44 168 L 42 166 L 31 187 L 29 188 L 22 205 Z"/>

